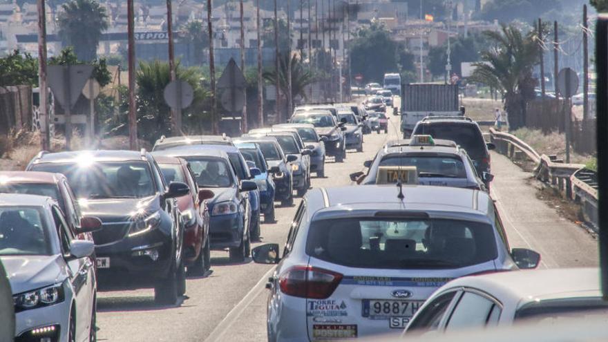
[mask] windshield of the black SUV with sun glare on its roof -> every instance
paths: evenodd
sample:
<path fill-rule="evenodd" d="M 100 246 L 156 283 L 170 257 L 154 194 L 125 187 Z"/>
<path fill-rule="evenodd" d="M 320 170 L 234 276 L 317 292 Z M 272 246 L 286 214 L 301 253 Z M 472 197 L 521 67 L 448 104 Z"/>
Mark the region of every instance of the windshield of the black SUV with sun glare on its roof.
<path fill-rule="evenodd" d="M 146 162 L 46 163 L 32 171 L 63 173 L 77 198 L 144 198 L 156 192 Z"/>

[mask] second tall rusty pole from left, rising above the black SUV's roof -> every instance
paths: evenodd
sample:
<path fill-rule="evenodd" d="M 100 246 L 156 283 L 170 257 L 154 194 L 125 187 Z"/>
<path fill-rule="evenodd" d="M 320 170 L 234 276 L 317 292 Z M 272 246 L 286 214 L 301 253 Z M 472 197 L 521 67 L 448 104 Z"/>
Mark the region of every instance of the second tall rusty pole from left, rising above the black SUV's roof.
<path fill-rule="evenodd" d="M 129 147 L 137 150 L 137 105 L 135 104 L 135 15 L 133 0 L 126 0 L 127 35 L 129 35 Z"/>

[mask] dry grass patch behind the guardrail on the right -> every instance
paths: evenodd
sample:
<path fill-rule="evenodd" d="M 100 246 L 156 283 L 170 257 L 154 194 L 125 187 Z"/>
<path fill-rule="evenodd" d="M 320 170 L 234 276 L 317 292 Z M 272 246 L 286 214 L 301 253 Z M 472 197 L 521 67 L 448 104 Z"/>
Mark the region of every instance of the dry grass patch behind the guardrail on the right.
<path fill-rule="evenodd" d="M 510 132 L 529 144 L 539 154 L 557 155 L 558 158 L 566 158 L 566 137 L 564 134 L 552 132 L 548 135 L 543 135 L 540 130 L 536 129 L 518 129 Z M 573 164 L 587 164 L 593 160 L 592 155 L 580 155 L 570 149 L 570 162 Z"/>

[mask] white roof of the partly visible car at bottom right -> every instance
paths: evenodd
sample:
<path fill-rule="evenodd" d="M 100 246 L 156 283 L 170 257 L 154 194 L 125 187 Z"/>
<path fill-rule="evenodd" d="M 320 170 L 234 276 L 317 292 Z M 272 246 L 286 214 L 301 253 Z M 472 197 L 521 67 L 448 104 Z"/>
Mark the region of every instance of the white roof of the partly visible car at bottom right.
<path fill-rule="evenodd" d="M 444 288 L 473 287 L 511 300 L 520 306 L 533 301 L 571 296 L 600 296 L 598 268 L 533 269 L 467 276 L 444 285 Z M 593 293 L 596 293 L 593 295 Z"/>

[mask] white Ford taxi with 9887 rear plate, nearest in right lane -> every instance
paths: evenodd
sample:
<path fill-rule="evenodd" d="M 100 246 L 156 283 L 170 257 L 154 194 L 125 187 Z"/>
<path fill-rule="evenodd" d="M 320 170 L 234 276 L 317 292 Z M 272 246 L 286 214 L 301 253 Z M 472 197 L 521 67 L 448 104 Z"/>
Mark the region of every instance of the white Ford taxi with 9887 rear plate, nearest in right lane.
<path fill-rule="evenodd" d="M 256 263 L 278 263 L 267 284 L 268 339 L 398 336 L 447 281 L 536 267 L 538 254 L 508 246 L 484 191 L 312 189 L 296 211 L 282 258 L 278 244 L 252 253 Z"/>

